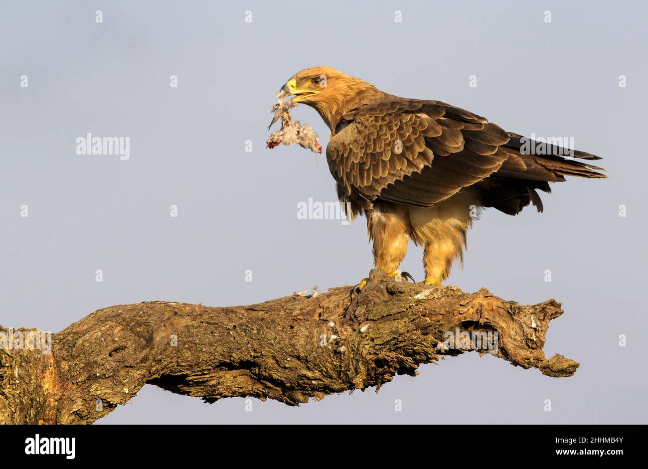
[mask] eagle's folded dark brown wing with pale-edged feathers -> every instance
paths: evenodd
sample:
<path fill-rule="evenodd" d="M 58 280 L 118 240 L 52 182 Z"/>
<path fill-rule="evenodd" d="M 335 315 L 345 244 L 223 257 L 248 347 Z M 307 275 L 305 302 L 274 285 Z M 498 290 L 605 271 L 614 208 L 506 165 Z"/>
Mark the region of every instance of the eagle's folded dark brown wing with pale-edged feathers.
<path fill-rule="evenodd" d="M 497 204 L 516 198 L 538 205 L 535 189 L 548 191 L 547 181 L 605 177 L 593 171 L 601 169 L 596 166 L 557 155 L 524 155 L 520 146 L 519 135 L 464 109 L 389 97 L 341 117 L 327 160 L 341 196 L 364 208 L 376 199 L 429 207 L 472 185 L 487 206 L 501 209 Z"/>

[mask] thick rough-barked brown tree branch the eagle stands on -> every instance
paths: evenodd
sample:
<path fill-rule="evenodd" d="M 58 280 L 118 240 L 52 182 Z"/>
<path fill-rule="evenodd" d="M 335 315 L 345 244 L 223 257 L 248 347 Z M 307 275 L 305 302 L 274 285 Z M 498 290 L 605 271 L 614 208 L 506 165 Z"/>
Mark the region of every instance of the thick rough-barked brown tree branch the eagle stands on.
<path fill-rule="evenodd" d="M 0 423 L 90 424 L 146 383 L 206 402 L 255 396 L 289 405 L 377 391 L 395 374 L 415 375 L 421 363 L 474 349 L 470 341 L 446 340 L 456 328 L 470 337 L 497 332 L 491 353 L 513 365 L 572 376 L 577 362 L 559 354 L 546 360 L 542 351 L 549 321 L 561 314 L 554 300 L 520 306 L 485 288 L 463 293 L 397 282 L 377 270 L 362 292 L 344 286 L 226 308 L 111 306 L 52 334 L 49 354 L 5 343 Z"/>

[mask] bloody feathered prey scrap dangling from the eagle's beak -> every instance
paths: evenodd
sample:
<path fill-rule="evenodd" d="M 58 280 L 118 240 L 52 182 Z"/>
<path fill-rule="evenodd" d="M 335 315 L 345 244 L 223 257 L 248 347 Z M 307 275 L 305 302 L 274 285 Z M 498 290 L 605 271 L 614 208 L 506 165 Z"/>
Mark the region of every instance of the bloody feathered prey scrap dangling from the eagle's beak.
<path fill-rule="evenodd" d="M 272 125 L 281 119 L 281 129 L 273 132 L 266 142 L 266 148 L 275 148 L 279 144 L 290 145 L 297 143 L 303 148 L 310 148 L 314 153 L 321 153 L 322 146 L 318 143 L 319 136 L 312 127 L 302 125 L 299 120 L 292 120 L 290 109 L 297 106 L 293 98 L 285 99 L 286 94 L 283 92 L 277 93 L 277 102 L 272 106 L 272 112 L 275 116 L 268 126 L 268 130 Z"/>

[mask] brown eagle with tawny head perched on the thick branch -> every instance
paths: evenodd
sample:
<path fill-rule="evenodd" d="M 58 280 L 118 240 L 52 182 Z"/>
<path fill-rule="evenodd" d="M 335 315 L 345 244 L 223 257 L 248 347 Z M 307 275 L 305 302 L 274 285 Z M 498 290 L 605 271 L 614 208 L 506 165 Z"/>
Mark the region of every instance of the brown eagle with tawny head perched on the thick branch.
<path fill-rule="evenodd" d="M 401 98 L 330 67 L 292 76 L 280 95 L 316 111 L 340 202 L 367 217 L 376 268 L 399 271 L 408 242 L 423 247 L 425 284 L 463 263 L 466 233 L 485 207 L 516 215 L 566 176 L 606 177 L 596 155 L 527 139 L 445 102 Z M 546 142 L 545 142 L 546 143 Z M 411 278 L 411 276 L 408 275 Z M 362 287 L 362 283 L 360 287 Z"/>

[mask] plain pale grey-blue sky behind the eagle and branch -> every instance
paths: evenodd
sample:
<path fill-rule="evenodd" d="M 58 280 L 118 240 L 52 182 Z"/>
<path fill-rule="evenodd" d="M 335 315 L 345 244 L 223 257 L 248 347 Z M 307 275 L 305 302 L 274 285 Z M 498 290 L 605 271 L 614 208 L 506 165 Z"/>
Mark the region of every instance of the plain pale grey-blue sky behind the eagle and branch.
<path fill-rule="evenodd" d="M 543 214 L 487 210 L 447 282 L 521 304 L 557 299 L 565 314 L 546 356 L 580 369 L 548 378 L 467 353 L 377 395 L 253 400 L 252 412 L 243 398 L 210 406 L 146 385 L 99 423 L 646 423 L 646 17 L 642 1 L 3 0 L 0 324 L 56 332 L 113 304 L 252 304 L 365 277 L 364 218 L 297 220 L 300 201 L 336 198 L 325 157 L 264 148 L 273 93 L 329 65 L 605 158 L 610 179 L 553 185 Z M 328 142 L 313 109 L 294 115 Z M 130 137 L 130 159 L 77 155 L 87 132 Z M 421 258 L 411 246 L 401 268 L 421 280 Z"/>

